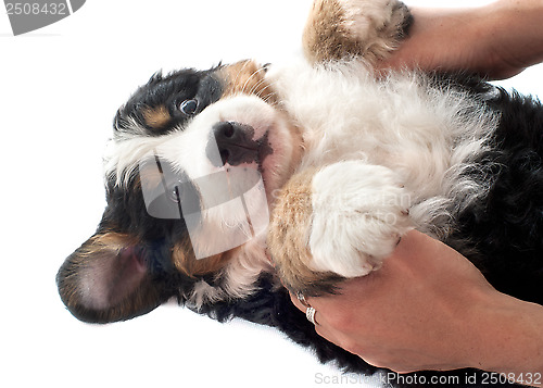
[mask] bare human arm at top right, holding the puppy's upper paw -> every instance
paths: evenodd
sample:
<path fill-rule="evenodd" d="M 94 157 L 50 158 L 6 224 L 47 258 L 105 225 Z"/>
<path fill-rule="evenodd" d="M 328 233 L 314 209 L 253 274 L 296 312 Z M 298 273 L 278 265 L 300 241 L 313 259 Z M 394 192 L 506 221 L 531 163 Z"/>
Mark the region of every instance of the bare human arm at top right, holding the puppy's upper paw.
<path fill-rule="evenodd" d="M 508 78 L 543 61 L 543 1 L 498 0 L 467 9 L 413 8 L 409 36 L 379 67 Z"/>

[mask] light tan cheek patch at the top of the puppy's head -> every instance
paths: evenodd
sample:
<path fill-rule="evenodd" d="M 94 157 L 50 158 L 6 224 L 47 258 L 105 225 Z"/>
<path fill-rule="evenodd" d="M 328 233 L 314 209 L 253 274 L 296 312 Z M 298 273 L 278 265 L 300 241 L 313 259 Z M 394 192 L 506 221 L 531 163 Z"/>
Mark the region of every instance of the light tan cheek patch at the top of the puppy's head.
<path fill-rule="evenodd" d="M 255 95 L 266 102 L 276 103 L 276 95 L 266 80 L 266 71 L 254 61 L 241 61 L 218 71 L 225 80 L 223 96 Z"/>

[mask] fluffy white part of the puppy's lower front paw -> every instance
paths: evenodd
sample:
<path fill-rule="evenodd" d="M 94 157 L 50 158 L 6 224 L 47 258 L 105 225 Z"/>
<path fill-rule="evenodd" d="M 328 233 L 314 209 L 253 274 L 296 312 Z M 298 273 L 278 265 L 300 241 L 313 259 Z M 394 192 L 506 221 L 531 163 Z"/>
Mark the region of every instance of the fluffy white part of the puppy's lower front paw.
<path fill-rule="evenodd" d="M 343 277 L 379 268 L 411 229 L 409 196 L 389 168 L 332 164 L 313 179 L 311 267 Z"/>

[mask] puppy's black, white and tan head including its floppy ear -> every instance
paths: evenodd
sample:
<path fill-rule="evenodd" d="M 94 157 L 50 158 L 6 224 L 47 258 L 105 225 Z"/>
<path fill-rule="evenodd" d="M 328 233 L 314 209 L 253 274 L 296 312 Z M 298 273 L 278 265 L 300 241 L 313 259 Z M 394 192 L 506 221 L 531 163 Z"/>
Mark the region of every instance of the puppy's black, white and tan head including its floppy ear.
<path fill-rule="evenodd" d="M 116 114 L 102 221 L 58 274 L 66 306 L 126 320 L 216 280 L 265 231 L 299 142 L 265 66 L 154 75 Z"/>

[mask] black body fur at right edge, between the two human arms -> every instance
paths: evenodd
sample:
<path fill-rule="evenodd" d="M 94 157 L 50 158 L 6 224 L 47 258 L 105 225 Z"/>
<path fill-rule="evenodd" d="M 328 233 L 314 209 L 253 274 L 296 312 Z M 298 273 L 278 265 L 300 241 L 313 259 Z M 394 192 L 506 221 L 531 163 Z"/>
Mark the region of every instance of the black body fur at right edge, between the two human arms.
<path fill-rule="evenodd" d="M 489 104 L 501 123 L 496 149 L 480 164 L 497 178 L 446 242 L 473 252 L 468 258 L 497 290 L 543 304 L 543 108 L 503 89 Z"/>

